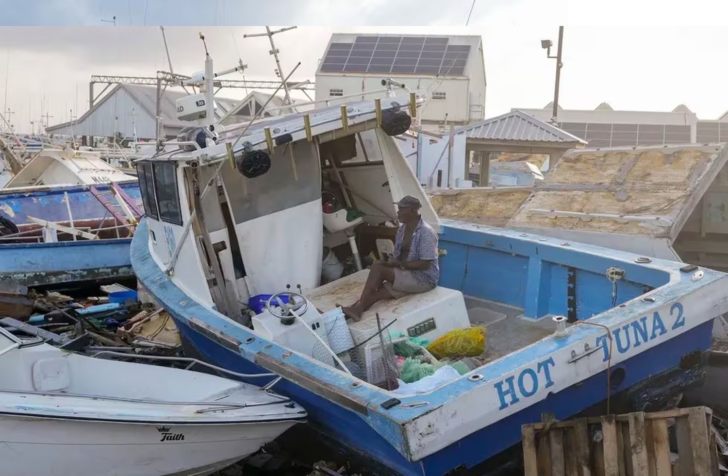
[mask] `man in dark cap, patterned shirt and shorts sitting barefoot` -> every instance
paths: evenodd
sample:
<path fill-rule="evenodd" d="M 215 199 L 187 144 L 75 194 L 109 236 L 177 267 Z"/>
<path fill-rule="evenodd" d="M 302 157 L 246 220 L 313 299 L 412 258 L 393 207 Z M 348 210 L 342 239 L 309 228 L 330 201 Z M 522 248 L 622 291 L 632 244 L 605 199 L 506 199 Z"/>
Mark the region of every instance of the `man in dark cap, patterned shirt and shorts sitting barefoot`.
<path fill-rule="evenodd" d="M 371 266 L 359 300 L 342 308 L 347 317 L 359 321 L 380 300 L 430 291 L 438 285 L 438 234 L 420 216 L 421 206 L 419 198 L 410 195 L 397 202 L 397 220 L 402 225 L 395 238 L 396 259 Z"/>

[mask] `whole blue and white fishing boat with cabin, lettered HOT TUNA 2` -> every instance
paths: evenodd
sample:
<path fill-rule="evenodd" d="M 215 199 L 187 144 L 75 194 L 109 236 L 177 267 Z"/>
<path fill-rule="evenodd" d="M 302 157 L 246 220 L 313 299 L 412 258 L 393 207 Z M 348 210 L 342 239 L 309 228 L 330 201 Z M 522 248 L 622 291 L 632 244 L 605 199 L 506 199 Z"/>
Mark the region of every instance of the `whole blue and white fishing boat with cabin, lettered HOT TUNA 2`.
<path fill-rule="evenodd" d="M 203 125 L 192 133 L 199 140 L 147 152 L 138 163 L 147 216 L 132 266 L 186 351 L 236 372 L 282 375 L 276 391 L 300 402 L 312 425 L 403 475 L 459 474 L 517 445 L 521 424 L 542 413 L 568 418 L 612 394 L 645 409 L 699 378 L 713 319 L 728 310 L 727 275 L 440 221 L 389 136 L 392 114 L 402 120 L 419 101 L 390 94 Z M 322 192 L 339 192 L 364 216 L 337 224 L 322 213 Z M 381 224 L 404 195 L 422 200 L 423 219 L 440 233 L 440 285 L 347 322 L 342 347 L 331 316 L 357 298 L 368 270 L 320 285 L 323 245 L 348 241 L 356 261 L 357 238 L 362 246 L 365 234 L 392 236 Z M 270 294 L 288 303 L 242 304 Z M 477 367 L 419 392 L 391 390 L 385 340 L 432 341 L 470 325 L 486 327 Z"/>

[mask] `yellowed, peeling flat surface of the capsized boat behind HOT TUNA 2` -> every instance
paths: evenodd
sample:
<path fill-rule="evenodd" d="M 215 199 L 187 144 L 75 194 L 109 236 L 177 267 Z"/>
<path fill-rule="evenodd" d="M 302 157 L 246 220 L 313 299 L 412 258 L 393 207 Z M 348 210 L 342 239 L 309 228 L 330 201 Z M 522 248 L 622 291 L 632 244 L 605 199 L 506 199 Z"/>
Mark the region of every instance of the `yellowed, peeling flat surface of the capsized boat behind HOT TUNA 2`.
<path fill-rule="evenodd" d="M 595 244 L 614 233 L 672 242 L 727 160 L 726 144 L 572 149 L 534 187 L 435 190 L 431 198 L 443 218 Z"/>

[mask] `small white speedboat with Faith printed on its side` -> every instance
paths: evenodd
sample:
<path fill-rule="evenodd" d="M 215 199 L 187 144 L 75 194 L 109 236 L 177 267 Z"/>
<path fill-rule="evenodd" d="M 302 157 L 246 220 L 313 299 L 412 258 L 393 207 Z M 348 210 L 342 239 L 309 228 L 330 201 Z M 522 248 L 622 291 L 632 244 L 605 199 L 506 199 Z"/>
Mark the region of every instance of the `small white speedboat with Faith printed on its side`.
<path fill-rule="evenodd" d="M 207 475 L 306 418 L 247 383 L 72 354 L 4 329 L 0 369 L 4 475 Z"/>

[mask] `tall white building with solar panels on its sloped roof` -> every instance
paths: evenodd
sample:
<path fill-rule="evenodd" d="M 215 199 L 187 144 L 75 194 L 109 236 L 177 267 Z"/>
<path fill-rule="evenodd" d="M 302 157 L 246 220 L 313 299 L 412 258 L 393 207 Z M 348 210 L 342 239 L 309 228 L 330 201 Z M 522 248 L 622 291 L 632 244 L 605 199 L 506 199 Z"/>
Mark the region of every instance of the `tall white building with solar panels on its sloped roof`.
<path fill-rule="evenodd" d="M 360 93 L 381 90 L 385 78 L 430 92 L 419 112 L 423 128 L 446 130 L 485 117 L 480 36 L 333 34 L 316 71 L 316 99 L 360 99 Z"/>

